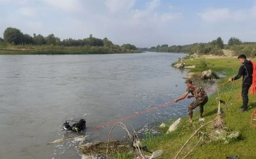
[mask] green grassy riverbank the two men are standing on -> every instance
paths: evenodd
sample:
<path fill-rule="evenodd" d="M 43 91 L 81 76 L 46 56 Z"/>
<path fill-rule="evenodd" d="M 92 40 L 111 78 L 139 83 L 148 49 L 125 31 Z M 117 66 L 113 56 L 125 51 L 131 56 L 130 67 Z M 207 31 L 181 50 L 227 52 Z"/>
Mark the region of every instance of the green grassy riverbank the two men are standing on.
<path fill-rule="evenodd" d="M 198 65 L 199 59 L 188 60 L 186 65 Z M 240 67 L 240 63 L 236 57 L 221 57 L 221 58 L 207 58 L 206 63 L 211 69 L 216 72 L 223 72 L 227 77 L 218 79 L 218 84 L 221 84 L 215 92 L 210 95 L 208 103 L 204 106 L 204 118 L 206 121 L 198 121 L 198 109 L 193 116 L 193 123 L 188 123 L 188 117 L 183 117 L 181 124 L 178 126 L 176 131 L 165 134 L 167 128 L 163 128 L 163 135 L 153 137 L 147 136 L 143 140 L 143 146 L 147 146 L 149 150 L 163 150 L 164 153 L 159 158 L 174 158 L 181 149 L 184 143 L 190 138 L 190 136 L 203 124 L 208 121 L 212 121 L 217 116 L 218 101 L 216 97 L 223 99 L 227 104 L 221 105 L 227 130 L 238 131 L 239 136 L 235 140 L 228 141 L 210 141 L 210 132 L 213 124 L 203 127 L 196 136 L 193 136 L 192 140 L 188 142 L 188 145 L 182 150 L 178 158 L 183 158 L 193 146 L 196 145 L 201 134 L 205 133 L 203 140 L 196 146 L 190 155 L 186 158 L 226 158 L 228 156 L 238 155 L 239 158 L 256 158 L 255 154 L 255 138 L 256 138 L 256 127 L 250 125 L 250 116 L 255 110 L 255 96 L 249 96 L 250 109 L 247 112 L 240 113 L 240 106 L 242 101 L 240 99 L 241 92 L 241 79 L 237 81 L 223 84 L 228 81 L 228 77 L 234 77 Z M 193 71 L 193 70 L 191 70 Z M 170 88 L 171 89 L 171 88 Z M 238 95 L 237 98 L 235 98 Z M 185 99 L 186 100 L 186 99 Z M 181 101 L 182 102 L 182 101 Z M 172 105 L 170 105 L 172 106 Z M 169 121 L 170 125 L 174 120 Z M 255 121 L 256 123 L 256 121 Z M 169 127 L 169 126 L 167 126 Z M 225 138 L 227 136 L 223 136 Z M 122 158 L 132 158 L 131 155 L 125 155 Z"/>

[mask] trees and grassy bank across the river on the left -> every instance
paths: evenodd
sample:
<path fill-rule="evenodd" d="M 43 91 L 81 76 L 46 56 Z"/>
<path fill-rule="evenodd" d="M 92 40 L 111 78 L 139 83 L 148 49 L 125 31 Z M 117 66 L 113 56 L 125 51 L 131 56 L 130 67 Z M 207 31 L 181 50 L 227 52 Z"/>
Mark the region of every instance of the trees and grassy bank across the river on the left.
<path fill-rule="evenodd" d="M 60 40 L 54 34 L 23 34 L 17 28 L 6 28 L 4 39 L 0 38 L 0 55 L 3 54 L 107 54 L 142 53 L 135 45 L 115 45 L 107 38 L 100 39 L 90 35 L 88 38 Z"/>

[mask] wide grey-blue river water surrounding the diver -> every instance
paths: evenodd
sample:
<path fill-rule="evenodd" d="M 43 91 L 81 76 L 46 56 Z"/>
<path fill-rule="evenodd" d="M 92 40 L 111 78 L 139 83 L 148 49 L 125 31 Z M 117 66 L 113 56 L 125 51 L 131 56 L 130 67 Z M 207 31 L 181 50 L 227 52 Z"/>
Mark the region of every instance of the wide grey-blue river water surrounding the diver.
<path fill-rule="evenodd" d="M 67 136 L 105 141 L 112 125 L 97 126 L 171 102 L 186 90 L 171 63 L 182 53 L 110 55 L 0 55 L 1 158 L 81 158 Z M 187 114 L 190 99 L 122 121 L 129 131 Z M 65 120 L 85 119 L 82 133 L 63 131 Z M 114 128 L 112 138 L 126 132 Z"/>

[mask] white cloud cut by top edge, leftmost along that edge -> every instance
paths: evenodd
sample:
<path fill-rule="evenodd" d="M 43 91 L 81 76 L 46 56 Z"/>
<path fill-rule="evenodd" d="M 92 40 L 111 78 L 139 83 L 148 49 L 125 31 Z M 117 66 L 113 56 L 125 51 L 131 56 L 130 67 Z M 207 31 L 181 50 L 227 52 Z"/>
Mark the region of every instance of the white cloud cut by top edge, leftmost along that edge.
<path fill-rule="evenodd" d="M 56 9 L 64 11 L 79 12 L 82 11 L 82 4 L 79 0 L 41 0 Z"/>

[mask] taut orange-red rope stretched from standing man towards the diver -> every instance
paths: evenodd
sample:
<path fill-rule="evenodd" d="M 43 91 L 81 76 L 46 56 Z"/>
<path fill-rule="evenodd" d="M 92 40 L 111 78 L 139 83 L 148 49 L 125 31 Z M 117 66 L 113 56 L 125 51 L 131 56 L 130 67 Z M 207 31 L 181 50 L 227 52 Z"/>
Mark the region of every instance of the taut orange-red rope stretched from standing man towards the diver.
<path fill-rule="evenodd" d="M 224 82 L 223 84 L 218 84 L 217 86 L 214 86 L 214 87 L 211 87 L 211 88 L 209 88 L 209 89 L 206 89 L 206 92 L 209 92 L 210 90 L 213 90 L 213 89 L 215 89 L 215 88 L 217 88 L 217 87 L 220 87 L 221 85 L 224 85 L 224 84 L 227 84 L 227 83 L 228 83 L 228 82 Z M 161 107 L 163 107 L 163 106 L 167 106 L 167 105 L 170 105 L 170 104 L 172 104 L 172 103 L 174 103 L 174 102 L 171 101 L 171 102 L 167 102 L 167 103 L 161 104 L 161 105 L 159 105 L 159 106 L 155 106 L 155 107 L 150 108 L 150 109 L 146 109 L 145 111 L 142 111 L 142 112 L 133 114 L 133 115 L 131 115 L 131 116 L 127 116 L 127 117 L 124 117 L 124 118 L 122 118 L 122 119 L 118 119 L 118 120 L 116 120 L 116 121 L 112 121 L 112 122 L 107 123 L 107 124 L 104 124 L 104 125 L 102 125 L 102 126 L 97 126 L 95 129 L 99 129 L 99 128 L 103 128 L 103 127 L 105 127 L 105 126 L 110 126 L 110 125 L 112 125 L 112 124 L 116 124 L 116 123 L 118 123 L 118 122 L 121 122 L 121 121 L 130 119 L 130 118 L 132 118 L 132 117 L 134 117 L 134 116 L 139 116 L 140 114 L 144 114 L 144 113 L 149 112 L 149 111 L 152 111 L 152 110 L 154 110 L 154 109 L 159 109 L 159 108 L 161 108 Z"/>

